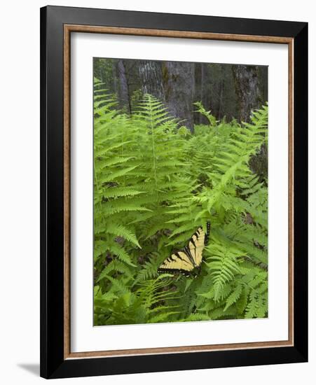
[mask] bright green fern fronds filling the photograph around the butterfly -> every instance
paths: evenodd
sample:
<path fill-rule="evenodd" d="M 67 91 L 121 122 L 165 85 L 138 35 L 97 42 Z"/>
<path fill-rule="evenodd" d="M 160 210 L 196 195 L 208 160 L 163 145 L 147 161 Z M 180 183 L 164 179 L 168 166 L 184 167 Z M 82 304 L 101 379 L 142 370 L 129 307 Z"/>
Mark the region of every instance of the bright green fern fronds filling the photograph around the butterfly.
<path fill-rule="evenodd" d="M 249 168 L 267 106 L 241 126 L 199 104 L 191 134 L 149 94 L 125 115 L 95 79 L 94 109 L 95 325 L 267 316 L 268 193 Z M 207 221 L 200 275 L 158 276 Z"/>

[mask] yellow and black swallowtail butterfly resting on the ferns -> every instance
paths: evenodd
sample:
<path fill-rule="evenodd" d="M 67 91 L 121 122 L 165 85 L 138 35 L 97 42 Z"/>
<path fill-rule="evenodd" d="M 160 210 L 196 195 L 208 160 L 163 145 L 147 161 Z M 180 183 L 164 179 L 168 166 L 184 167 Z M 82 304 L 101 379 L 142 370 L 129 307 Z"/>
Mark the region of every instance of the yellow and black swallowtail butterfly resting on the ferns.
<path fill-rule="evenodd" d="M 188 245 L 179 251 L 174 251 L 158 267 L 158 273 L 181 273 L 185 276 L 197 276 L 200 273 L 202 263 L 202 251 L 209 239 L 211 225 L 207 222 L 206 232 L 202 226 L 195 231 L 188 241 Z"/>

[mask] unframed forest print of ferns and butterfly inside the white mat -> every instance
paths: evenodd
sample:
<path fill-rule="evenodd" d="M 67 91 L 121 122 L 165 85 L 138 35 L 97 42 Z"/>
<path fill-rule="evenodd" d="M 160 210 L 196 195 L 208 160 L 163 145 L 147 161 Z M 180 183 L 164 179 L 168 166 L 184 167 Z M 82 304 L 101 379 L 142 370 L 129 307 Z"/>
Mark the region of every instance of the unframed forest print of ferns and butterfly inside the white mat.
<path fill-rule="evenodd" d="M 268 317 L 268 66 L 93 59 L 95 326 Z"/>

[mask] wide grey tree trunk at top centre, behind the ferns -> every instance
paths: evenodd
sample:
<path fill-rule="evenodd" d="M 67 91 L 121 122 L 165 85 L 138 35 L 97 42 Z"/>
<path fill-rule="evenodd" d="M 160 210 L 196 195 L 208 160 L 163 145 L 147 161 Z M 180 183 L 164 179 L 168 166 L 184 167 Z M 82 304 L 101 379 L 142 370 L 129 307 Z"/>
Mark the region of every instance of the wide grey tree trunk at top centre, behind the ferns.
<path fill-rule="evenodd" d="M 193 132 L 194 63 L 164 62 L 163 80 L 170 114 Z"/>

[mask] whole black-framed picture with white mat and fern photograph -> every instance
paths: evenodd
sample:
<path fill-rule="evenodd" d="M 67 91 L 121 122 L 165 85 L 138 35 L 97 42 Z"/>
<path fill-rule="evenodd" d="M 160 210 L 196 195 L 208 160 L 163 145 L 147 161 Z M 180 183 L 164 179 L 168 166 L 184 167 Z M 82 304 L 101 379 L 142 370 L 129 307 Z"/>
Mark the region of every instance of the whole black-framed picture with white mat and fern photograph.
<path fill-rule="evenodd" d="M 308 25 L 41 8 L 41 376 L 308 360 Z"/>

